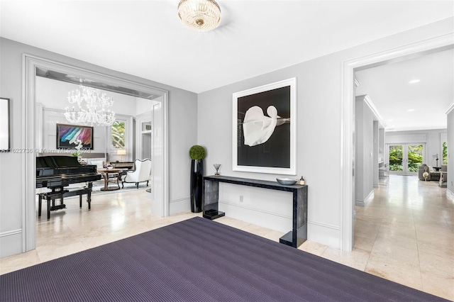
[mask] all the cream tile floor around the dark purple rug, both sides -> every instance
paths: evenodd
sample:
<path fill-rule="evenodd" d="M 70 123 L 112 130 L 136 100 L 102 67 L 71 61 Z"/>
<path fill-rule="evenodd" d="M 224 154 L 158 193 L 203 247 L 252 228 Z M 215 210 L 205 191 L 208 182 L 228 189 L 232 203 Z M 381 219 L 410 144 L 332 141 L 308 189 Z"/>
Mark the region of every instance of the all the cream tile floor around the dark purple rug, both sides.
<path fill-rule="evenodd" d="M 352 252 L 311 241 L 299 249 L 454 301 L 454 203 L 445 192 L 434 181 L 391 176 L 373 201 L 356 207 Z M 65 211 L 38 220 L 36 250 L 0 259 L 0 274 L 201 216 L 153 216 L 144 190 L 94 195 L 92 211 L 80 210 L 78 198 L 65 203 Z M 283 235 L 233 218 L 215 221 L 270 240 Z"/>

